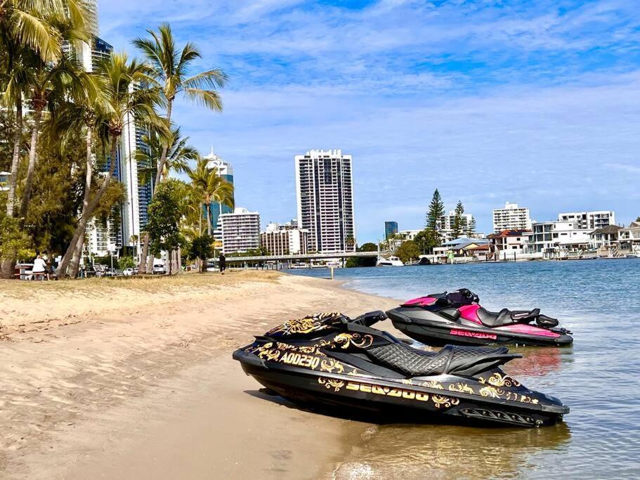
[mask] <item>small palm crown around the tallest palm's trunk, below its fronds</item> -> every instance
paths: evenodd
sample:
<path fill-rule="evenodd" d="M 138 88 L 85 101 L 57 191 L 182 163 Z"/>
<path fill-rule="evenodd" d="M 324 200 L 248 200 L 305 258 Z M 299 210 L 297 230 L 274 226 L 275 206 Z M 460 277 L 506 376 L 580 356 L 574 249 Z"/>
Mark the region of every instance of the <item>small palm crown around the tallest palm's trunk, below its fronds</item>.
<path fill-rule="evenodd" d="M 140 176 L 140 182 L 146 184 L 155 180 L 158 159 L 161 157 L 162 149 L 167 142 L 156 129 L 150 129 L 150 134 L 143 135 L 142 141 L 149 148 L 148 150 L 136 151 L 136 160 L 145 165 L 145 167 L 138 168 L 138 175 Z M 197 150 L 188 145 L 188 141 L 189 137 L 181 138 L 179 127 L 171 129 L 171 140 L 168 142 L 170 146 L 166 153 L 166 161 L 162 171 L 163 180 L 169 176 L 169 171 L 186 173 L 189 169 L 189 162 L 197 160 Z"/>

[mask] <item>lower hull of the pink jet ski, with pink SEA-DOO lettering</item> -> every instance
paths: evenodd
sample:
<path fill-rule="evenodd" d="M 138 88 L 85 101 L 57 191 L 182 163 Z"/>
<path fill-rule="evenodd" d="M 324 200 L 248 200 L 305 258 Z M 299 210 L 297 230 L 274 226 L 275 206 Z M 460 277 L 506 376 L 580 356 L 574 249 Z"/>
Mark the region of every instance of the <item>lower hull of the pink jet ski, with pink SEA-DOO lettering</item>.
<path fill-rule="evenodd" d="M 400 332 L 426 345 L 566 346 L 573 343 L 573 337 L 566 333 L 530 325 L 497 328 L 465 325 L 431 312 L 403 307 L 390 310 L 386 314 Z"/>

